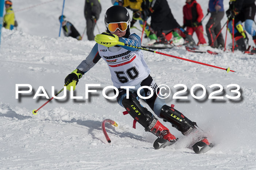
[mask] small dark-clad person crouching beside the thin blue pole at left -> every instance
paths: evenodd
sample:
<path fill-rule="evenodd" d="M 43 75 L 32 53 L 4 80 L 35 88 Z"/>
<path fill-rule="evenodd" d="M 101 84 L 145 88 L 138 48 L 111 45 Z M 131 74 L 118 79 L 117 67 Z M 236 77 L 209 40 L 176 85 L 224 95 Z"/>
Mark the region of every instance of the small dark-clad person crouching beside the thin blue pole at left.
<path fill-rule="evenodd" d="M 69 21 L 65 20 L 65 16 L 62 16 L 62 28 L 63 33 L 65 36 L 71 36 L 73 38 L 76 38 L 77 40 L 81 40 L 81 36 L 79 32 L 76 30 L 73 24 L 71 24 Z M 61 22 L 61 16 L 59 17 L 59 20 Z"/>

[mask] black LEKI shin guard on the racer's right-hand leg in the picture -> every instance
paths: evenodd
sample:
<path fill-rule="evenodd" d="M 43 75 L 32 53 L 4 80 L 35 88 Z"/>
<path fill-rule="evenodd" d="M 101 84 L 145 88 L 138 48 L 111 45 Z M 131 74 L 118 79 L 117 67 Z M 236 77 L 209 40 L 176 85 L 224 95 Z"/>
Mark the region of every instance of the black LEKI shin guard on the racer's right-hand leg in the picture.
<path fill-rule="evenodd" d="M 178 131 L 181 131 L 183 135 L 188 135 L 192 131 L 196 130 L 196 123 L 189 120 L 173 107 L 174 105 L 172 105 L 172 107 L 163 105 L 160 112 L 160 117 L 165 121 L 170 122 L 172 126 Z"/>

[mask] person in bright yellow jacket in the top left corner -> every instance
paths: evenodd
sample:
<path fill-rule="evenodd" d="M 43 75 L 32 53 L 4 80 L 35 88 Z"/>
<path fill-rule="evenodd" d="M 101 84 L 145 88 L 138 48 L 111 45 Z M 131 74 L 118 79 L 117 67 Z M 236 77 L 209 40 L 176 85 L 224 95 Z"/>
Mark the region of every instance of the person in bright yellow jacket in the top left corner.
<path fill-rule="evenodd" d="M 4 23 L 3 27 L 6 29 L 14 29 L 15 25 L 15 16 L 14 16 L 14 11 L 12 10 L 12 2 L 7 0 L 4 2 L 5 5 L 5 15 L 4 15 Z"/>

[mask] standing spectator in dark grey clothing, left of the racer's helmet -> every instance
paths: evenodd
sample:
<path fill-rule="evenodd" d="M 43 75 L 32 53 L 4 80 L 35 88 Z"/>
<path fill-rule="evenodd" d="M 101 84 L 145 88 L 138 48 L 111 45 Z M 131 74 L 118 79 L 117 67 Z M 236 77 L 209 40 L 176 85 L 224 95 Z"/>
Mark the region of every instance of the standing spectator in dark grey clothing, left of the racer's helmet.
<path fill-rule="evenodd" d="M 99 14 L 101 13 L 101 4 L 99 0 L 85 0 L 84 5 L 84 17 L 86 19 L 86 34 L 88 40 L 94 40 L 94 27 L 99 19 Z"/>

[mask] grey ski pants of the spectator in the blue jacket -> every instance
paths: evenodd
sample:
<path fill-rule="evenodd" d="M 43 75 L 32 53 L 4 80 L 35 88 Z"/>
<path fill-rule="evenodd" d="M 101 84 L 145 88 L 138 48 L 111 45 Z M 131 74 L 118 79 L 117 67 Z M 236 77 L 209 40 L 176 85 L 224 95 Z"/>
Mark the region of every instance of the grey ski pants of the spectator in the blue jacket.
<path fill-rule="evenodd" d="M 211 17 L 206 24 L 206 33 L 209 46 L 212 44 L 212 41 L 214 41 L 215 37 L 221 31 L 221 20 L 224 16 L 224 13 L 224 11 L 211 12 Z M 212 47 L 219 47 L 220 45 L 224 47 L 224 39 L 222 33 L 219 34 L 217 40 L 214 41 Z"/>

